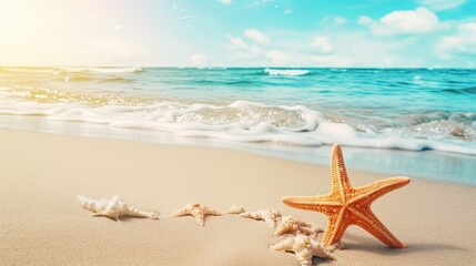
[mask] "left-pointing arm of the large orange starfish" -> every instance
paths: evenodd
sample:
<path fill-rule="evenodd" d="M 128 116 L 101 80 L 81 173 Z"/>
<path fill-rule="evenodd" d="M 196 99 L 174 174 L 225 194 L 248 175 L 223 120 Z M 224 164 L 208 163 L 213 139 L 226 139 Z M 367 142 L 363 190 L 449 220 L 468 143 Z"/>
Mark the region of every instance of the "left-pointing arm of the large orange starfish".
<path fill-rule="evenodd" d="M 342 203 L 336 202 L 330 195 L 322 196 L 287 196 L 281 198 L 287 206 L 301 208 L 305 211 L 320 212 L 323 214 L 332 214 L 333 211 L 340 208 Z"/>

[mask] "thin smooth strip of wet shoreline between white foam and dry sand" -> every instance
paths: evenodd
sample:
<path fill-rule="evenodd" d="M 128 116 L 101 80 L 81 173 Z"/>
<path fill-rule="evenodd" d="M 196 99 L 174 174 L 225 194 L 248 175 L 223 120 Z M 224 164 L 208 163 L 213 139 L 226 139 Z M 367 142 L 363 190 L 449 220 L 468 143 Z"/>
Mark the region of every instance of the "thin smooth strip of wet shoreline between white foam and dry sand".
<path fill-rule="evenodd" d="M 115 129 L 102 124 L 52 121 L 37 116 L 0 115 L 0 130 L 53 133 L 60 135 L 112 139 L 152 144 L 219 147 L 301 163 L 328 165 L 331 145 L 296 146 L 283 143 L 235 143 L 184 137 L 172 133 Z M 437 151 L 405 151 L 345 146 L 350 167 L 388 175 L 412 175 L 426 180 L 476 186 L 476 156 Z M 422 160 L 423 158 L 423 160 Z"/>

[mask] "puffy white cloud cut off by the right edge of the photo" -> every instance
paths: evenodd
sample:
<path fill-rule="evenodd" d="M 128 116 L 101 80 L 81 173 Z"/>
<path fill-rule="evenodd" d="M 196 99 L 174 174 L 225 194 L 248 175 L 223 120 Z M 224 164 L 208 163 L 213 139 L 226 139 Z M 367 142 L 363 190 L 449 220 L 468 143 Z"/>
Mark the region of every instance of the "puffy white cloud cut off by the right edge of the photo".
<path fill-rule="evenodd" d="M 476 54 L 476 22 L 463 23 L 457 34 L 442 37 L 435 48 L 440 59 L 450 59 L 453 55 Z"/>

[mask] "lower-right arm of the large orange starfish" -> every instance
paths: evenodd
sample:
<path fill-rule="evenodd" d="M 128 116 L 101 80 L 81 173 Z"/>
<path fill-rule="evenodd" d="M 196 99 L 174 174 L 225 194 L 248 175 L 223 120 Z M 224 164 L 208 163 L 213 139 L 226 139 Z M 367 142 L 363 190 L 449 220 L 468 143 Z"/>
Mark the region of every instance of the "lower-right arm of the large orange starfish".
<path fill-rule="evenodd" d="M 402 244 L 388 229 L 385 225 L 374 215 L 369 208 L 355 209 L 350 208 L 350 212 L 357 216 L 356 225 L 364 228 L 366 232 L 375 236 L 377 239 L 383 242 L 388 247 L 394 248 L 405 248 L 405 245 Z"/>

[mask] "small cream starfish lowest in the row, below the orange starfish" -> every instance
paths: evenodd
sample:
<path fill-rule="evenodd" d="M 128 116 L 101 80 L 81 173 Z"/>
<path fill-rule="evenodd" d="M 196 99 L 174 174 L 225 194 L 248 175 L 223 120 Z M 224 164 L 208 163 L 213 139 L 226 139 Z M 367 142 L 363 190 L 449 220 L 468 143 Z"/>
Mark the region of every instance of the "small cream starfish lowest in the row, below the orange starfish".
<path fill-rule="evenodd" d="M 290 236 L 270 248 L 278 252 L 293 252 L 301 266 L 312 266 L 313 256 L 334 259 L 328 250 L 306 235 Z"/>

